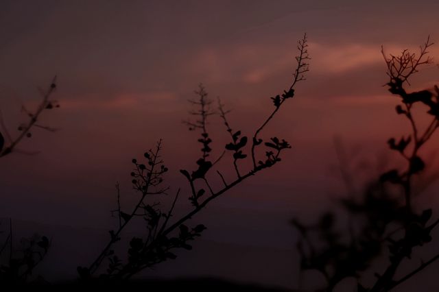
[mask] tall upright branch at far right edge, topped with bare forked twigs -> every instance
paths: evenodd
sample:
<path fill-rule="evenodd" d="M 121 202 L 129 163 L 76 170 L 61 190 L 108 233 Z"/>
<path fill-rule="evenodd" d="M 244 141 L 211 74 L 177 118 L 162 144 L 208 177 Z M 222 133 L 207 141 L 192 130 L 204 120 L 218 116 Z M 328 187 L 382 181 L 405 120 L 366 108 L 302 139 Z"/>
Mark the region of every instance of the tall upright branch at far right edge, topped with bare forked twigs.
<path fill-rule="evenodd" d="M 414 73 L 418 72 L 418 66 L 423 64 L 430 64 L 431 58 L 427 56 L 427 49 L 433 45 L 430 42 L 429 37 L 423 46 L 420 46 L 419 56 L 416 56 L 414 53 L 410 53 L 408 50 L 404 50 L 400 56 L 392 56 L 387 58 L 383 53 L 383 57 L 385 63 L 388 66 L 388 76 L 390 77 L 390 82 L 388 83 L 390 93 L 394 95 L 399 95 L 401 97 L 401 102 L 405 109 L 401 106 L 396 106 L 397 114 L 403 114 L 410 121 L 410 125 L 412 127 L 412 134 L 408 136 L 408 138 L 401 138 L 401 140 L 396 143 L 394 138 L 391 138 L 388 141 L 390 149 L 398 151 L 401 156 L 403 156 L 407 160 L 407 170 L 399 173 L 396 169 L 392 169 L 388 171 L 388 173 L 384 173 L 381 176 L 381 179 L 384 181 L 392 182 L 393 184 L 401 184 L 403 187 L 403 193 L 405 197 L 405 208 L 403 214 L 403 226 L 405 229 L 405 236 L 399 241 L 391 241 L 390 249 L 392 252 L 392 256 L 390 257 L 390 265 L 385 269 L 382 276 L 379 276 L 377 282 L 370 290 L 371 292 L 378 291 L 388 291 L 394 287 L 394 275 L 396 273 L 396 269 L 398 269 L 399 265 L 403 258 L 410 257 L 412 254 L 412 248 L 417 245 L 423 245 L 423 243 L 431 241 L 430 232 L 437 225 L 439 221 L 431 224 L 431 226 L 425 226 L 429 218 L 431 217 L 431 209 L 424 210 L 422 215 L 416 216 L 412 213 L 412 177 L 423 171 L 425 169 L 425 162 L 418 156 L 418 152 L 421 147 L 431 138 L 431 135 L 434 134 L 435 130 L 439 125 L 439 101 L 438 96 L 434 96 L 429 90 L 421 90 L 414 93 L 407 93 L 407 91 L 403 88 L 404 82 L 408 82 L 408 78 Z M 435 86 L 435 89 L 437 86 Z M 438 90 L 436 90 L 438 91 Z M 424 130 L 423 134 L 419 136 L 419 127 L 416 125 L 416 121 L 412 114 L 412 108 L 414 104 L 420 103 L 425 104 L 425 106 L 429 107 L 428 114 L 434 116 L 434 119 L 429 123 L 427 128 Z M 407 145 L 412 143 L 412 151 L 410 154 L 406 153 Z M 416 224 L 416 225 L 415 225 Z M 416 231 L 415 227 L 416 226 Z M 424 267 L 421 266 L 423 269 Z M 410 273 L 408 278 L 413 276 L 415 273 L 420 271 L 421 269 L 416 269 L 412 273 Z M 406 279 L 405 277 L 401 280 Z M 400 281 L 401 281 L 400 280 Z M 397 281 L 398 283 L 401 283 Z"/>

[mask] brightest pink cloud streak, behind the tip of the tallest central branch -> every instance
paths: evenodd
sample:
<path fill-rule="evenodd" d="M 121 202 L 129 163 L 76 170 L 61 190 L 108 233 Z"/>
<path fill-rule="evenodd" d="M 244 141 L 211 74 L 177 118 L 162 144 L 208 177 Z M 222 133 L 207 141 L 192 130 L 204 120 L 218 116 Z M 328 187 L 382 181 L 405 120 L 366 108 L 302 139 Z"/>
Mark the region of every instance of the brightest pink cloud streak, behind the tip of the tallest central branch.
<path fill-rule="evenodd" d="M 386 53 L 399 54 L 403 45 L 385 45 Z M 407 47 L 418 52 L 418 47 Z M 208 47 L 196 54 L 187 68 L 191 73 L 203 74 L 206 82 L 239 80 L 258 83 L 295 66 L 296 42 L 278 47 L 272 44 L 228 44 L 226 47 Z M 382 65 L 381 47 L 373 43 L 309 42 L 313 73 L 333 74 L 361 70 L 366 66 Z M 431 56 L 439 49 L 431 48 Z"/>

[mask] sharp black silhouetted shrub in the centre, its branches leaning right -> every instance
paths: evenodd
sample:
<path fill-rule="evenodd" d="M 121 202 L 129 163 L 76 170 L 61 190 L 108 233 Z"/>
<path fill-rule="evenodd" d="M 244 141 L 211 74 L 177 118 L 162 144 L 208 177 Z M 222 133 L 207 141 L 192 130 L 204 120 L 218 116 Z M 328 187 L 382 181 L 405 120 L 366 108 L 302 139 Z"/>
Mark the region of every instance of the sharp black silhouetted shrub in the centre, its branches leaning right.
<path fill-rule="evenodd" d="M 180 173 L 185 176 L 190 186 L 191 191 L 188 199 L 192 205 L 191 210 L 182 215 L 182 217 L 173 220 L 174 206 L 180 196 L 180 189 L 176 192 L 174 202 L 167 211 L 163 210 L 161 204 L 152 203 L 150 199 L 151 197 L 157 198 L 169 191 L 169 188 L 163 186 L 163 175 L 168 169 L 163 164 L 161 158 L 162 142 L 158 141 L 154 149 L 150 149 L 144 154 L 145 162 L 137 159 L 132 160 L 134 166 L 134 171 L 131 173 L 132 186 L 139 194 L 137 204 L 135 204 L 132 210 L 121 210 L 120 196 L 118 196 L 118 209 L 113 210 L 113 212 L 116 212 L 119 216 L 119 226 L 115 230 L 110 230 L 108 243 L 93 263 L 88 267 L 78 267 L 78 273 L 82 280 L 91 280 L 97 274 L 99 274 L 99 278 L 106 280 L 127 280 L 145 268 L 153 267 L 165 260 L 176 258 L 176 254 L 173 252 L 176 249 L 191 250 L 190 241 L 200 236 L 206 227 L 203 224 L 193 227 L 187 226 L 189 219 L 192 219 L 213 199 L 256 175 L 259 171 L 273 167 L 281 161 L 282 151 L 290 148 L 287 141 L 275 136 L 270 138 L 270 141 L 263 141 L 262 138 L 259 138 L 259 134 L 272 120 L 276 112 L 283 107 L 285 101 L 294 97 L 296 84 L 305 80 L 305 73 L 309 70 L 307 47 L 307 36 L 305 34 L 298 41 L 297 66 L 291 86 L 283 94 L 271 97 L 274 110 L 272 110 L 268 118 L 263 121 L 252 136 L 250 141 L 252 168 L 248 171 L 241 172 L 239 170 L 239 162 L 248 158 L 248 154 L 244 154 L 245 147 L 249 141 L 248 136 L 244 136 L 241 131 L 234 131 L 230 127 L 226 117 L 228 111 L 220 100 L 218 100 L 218 114 L 224 121 L 231 141 L 225 145 L 225 150 L 221 156 L 216 159 L 211 158 L 213 140 L 208 131 L 207 121 L 217 112 L 211 108 L 213 101 L 209 99 L 204 86 L 200 84 L 198 90 L 195 90 L 197 99 L 189 101 L 194 107 L 190 114 L 192 117 L 195 117 L 195 121 L 188 120 L 184 123 L 189 127 L 189 130 L 200 133 L 198 143 L 202 145 L 202 154 L 196 161 L 195 169 L 192 171 L 180 170 Z M 260 149 L 263 145 L 266 147 L 265 156 L 259 158 L 257 149 Z M 224 175 L 216 171 L 223 186 L 219 190 L 214 190 L 208 178 L 206 178 L 206 174 L 213 171 L 215 164 L 226 153 L 233 155 L 233 168 L 236 172 L 236 178 L 232 182 L 226 182 Z M 115 243 L 121 240 L 122 231 L 132 222 L 134 217 L 143 218 L 146 223 L 147 233 L 141 237 L 130 239 L 127 260 L 121 260 L 121 257 L 115 255 L 113 247 Z M 102 271 L 102 265 L 106 259 L 108 259 L 108 266 Z"/>

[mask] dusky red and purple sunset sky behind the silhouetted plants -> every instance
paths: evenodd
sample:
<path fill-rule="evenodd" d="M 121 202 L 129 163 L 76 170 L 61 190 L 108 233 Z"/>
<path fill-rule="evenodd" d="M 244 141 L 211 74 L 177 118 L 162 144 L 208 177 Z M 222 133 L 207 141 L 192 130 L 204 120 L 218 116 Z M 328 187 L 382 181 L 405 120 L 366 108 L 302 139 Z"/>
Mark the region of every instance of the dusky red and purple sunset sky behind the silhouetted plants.
<path fill-rule="evenodd" d="M 270 97 L 291 84 L 296 42 L 306 32 L 307 80 L 262 134 L 285 138 L 292 149 L 194 218 L 209 227 L 207 240 L 292 246 L 287 220 L 312 217 L 344 191 L 334 171 L 334 137 L 371 165 L 378 156 L 392 160 L 385 142 L 408 128 L 394 112 L 398 99 L 383 86 L 381 45 L 396 54 L 417 52 L 427 36 L 439 42 L 438 11 L 433 0 L 0 0 L 5 124 L 17 134 L 26 120 L 21 105 L 36 106 L 36 88 L 54 75 L 61 106 L 44 112 L 42 121 L 60 131 L 34 130 L 19 147 L 39 154 L 1 159 L 0 217 L 108 228 L 115 223 L 108 212 L 115 182 L 128 205 L 130 161 L 159 138 L 171 190 L 187 191 L 178 169 L 193 169 L 200 154 L 198 135 L 181 123 L 193 90 L 202 82 L 211 99 L 221 97 L 232 110 L 232 127 L 252 135 L 272 110 Z M 430 52 L 438 60 L 439 44 Z M 436 63 L 425 66 L 412 79 L 413 90 L 430 88 L 438 76 Z M 219 117 L 209 127 L 217 156 L 228 136 Z M 232 180 L 232 160 L 224 160 L 220 167 Z M 188 205 L 182 199 L 179 206 Z"/>

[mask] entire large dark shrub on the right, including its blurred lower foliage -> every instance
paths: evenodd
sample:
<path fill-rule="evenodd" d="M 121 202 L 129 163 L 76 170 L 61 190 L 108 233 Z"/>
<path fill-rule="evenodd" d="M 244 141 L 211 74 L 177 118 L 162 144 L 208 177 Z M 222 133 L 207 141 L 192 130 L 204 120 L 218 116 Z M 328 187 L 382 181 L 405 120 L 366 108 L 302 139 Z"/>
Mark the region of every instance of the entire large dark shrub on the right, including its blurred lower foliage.
<path fill-rule="evenodd" d="M 320 271 L 327 279 L 324 291 L 332 291 L 344 278 L 359 279 L 361 273 L 370 268 L 372 260 L 386 250 L 385 247 L 388 266 L 382 273 L 375 273 L 377 280 L 370 288 L 358 283 L 358 291 L 389 291 L 439 258 L 434 256 L 407 275 L 395 278 L 403 259 L 411 258 L 414 247 L 429 243 L 431 230 L 439 223 L 439 220 L 431 222 L 431 209 L 419 214 L 412 204 L 414 177 L 425 170 L 420 152 L 439 126 L 439 88 L 434 86 L 434 91 L 412 93 L 406 90 L 410 85 L 409 78 L 418 72 L 419 67 L 432 62 L 427 51 L 431 45 L 433 43 L 427 38 L 418 55 L 404 50 L 399 56 L 387 56 L 381 48 L 390 79 L 385 85 L 390 93 L 399 97 L 396 114 L 409 121 L 412 131 L 407 136 L 388 140 L 390 149 L 404 158 L 406 168 L 390 169 L 372 180 L 366 184 L 360 198 L 349 196 L 341 200 L 349 217 L 345 231 L 336 227 L 334 212 L 324 213 L 314 224 L 292 220 L 301 235 L 297 245 L 302 258 L 301 269 Z M 426 114 L 431 117 L 425 128 L 420 127 L 414 115 L 414 107 L 421 105 L 427 108 Z M 389 231 L 391 228 L 394 230 Z"/>

